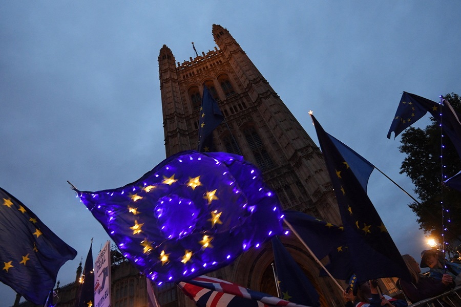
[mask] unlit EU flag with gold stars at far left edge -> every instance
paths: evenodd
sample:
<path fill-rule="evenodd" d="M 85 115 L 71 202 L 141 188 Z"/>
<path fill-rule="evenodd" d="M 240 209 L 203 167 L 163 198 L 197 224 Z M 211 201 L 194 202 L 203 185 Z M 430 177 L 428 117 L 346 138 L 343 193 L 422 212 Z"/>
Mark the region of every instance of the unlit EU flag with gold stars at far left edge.
<path fill-rule="evenodd" d="M 77 252 L 13 195 L 0 188 L 0 281 L 45 304 L 57 273 Z"/>

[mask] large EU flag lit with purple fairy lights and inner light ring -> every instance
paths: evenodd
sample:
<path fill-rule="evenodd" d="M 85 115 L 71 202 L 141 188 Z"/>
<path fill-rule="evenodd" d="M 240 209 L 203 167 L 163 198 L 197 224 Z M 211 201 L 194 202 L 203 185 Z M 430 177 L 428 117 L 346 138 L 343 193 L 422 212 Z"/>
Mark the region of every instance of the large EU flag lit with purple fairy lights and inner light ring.
<path fill-rule="evenodd" d="M 226 266 L 282 232 L 275 192 L 226 152 L 179 152 L 131 184 L 77 193 L 122 254 L 160 283 Z"/>

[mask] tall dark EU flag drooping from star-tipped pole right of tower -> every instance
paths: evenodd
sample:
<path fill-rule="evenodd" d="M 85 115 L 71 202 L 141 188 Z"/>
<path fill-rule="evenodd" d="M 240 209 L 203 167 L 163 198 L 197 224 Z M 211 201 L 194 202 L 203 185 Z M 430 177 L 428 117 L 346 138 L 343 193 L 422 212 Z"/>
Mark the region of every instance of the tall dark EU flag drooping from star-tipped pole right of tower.
<path fill-rule="evenodd" d="M 358 282 L 383 277 L 409 278 L 403 258 L 366 191 L 345 159 L 312 116 L 331 184 L 336 194 L 351 267 Z"/>

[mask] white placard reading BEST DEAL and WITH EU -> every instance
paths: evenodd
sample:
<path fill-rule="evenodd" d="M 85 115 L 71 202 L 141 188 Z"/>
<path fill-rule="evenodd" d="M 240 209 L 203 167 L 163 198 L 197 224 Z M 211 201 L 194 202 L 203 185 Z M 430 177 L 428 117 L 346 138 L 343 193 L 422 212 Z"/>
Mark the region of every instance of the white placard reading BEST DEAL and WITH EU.
<path fill-rule="evenodd" d="M 111 242 L 99 252 L 94 262 L 94 306 L 109 307 L 111 305 Z"/>

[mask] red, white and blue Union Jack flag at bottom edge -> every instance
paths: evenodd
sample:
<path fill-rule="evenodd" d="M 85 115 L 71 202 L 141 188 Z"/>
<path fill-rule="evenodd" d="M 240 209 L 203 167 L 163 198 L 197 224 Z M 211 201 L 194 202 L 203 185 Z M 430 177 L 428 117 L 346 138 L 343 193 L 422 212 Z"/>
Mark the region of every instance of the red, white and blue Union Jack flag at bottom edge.
<path fill-rule="evenodd" d="M 199 307 L 306 307 L 205 275 L 187 282 L 181 281 L 179 287 Z"/>

